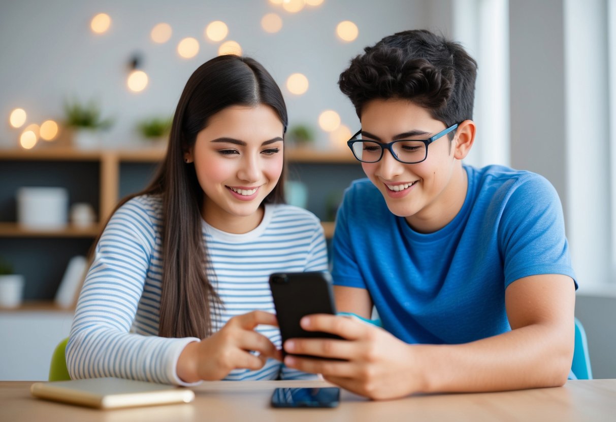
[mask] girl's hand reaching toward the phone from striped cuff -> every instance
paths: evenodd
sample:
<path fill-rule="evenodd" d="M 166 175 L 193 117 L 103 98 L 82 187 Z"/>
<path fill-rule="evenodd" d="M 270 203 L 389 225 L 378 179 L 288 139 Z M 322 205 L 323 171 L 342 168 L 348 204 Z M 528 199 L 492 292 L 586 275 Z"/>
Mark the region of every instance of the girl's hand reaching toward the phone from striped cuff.
<path fill-rule="evenodd" d="M 281 360 L 269 338 L 254 331 L 259 324 L 278 326 L 274 314 L 253 311 L 232 317 L 219 332 L 188 344 L 177 361 L 177 376 L 188 383 L 222 380 L 233 369 L 257 370 L 269 357 Z"/>

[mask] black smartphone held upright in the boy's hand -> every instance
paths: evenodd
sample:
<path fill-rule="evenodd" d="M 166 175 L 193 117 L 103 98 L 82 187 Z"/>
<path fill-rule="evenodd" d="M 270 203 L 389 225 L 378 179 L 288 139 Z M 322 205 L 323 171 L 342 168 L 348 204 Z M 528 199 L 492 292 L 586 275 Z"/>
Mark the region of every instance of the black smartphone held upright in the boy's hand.
<path fill-rule="evenodd" d="M 299 325 L 299 320 L 306 315 L 336 314 L 330 273 L 274 273 L 269 284 L 283 343 L 297 337 L 341 339 L 330 333 L 306 331 Z M 282 352 L 284 356 L 284 349 Z"/>

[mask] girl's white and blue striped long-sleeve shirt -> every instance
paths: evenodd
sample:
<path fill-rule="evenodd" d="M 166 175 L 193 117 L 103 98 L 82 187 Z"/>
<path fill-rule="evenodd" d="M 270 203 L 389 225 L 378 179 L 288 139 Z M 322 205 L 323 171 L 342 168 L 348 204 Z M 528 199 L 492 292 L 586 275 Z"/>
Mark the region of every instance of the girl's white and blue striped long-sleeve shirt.
<path fill-rule="evenodd" d="M 176 374 L 184 347 L 197 338 L 158 336 L 162 277 L 162 202 L 139 196 L 118 209 L 103 231 L 79 295 L 67 345 L 71 378 L 116 376 L 185 384 Z M 269 275 L 327 269 L 323 229 L 310 212 L 265 205 L 259 226 L 231 234 L 202 226 L 208 278 L 222 300 L 213 332 L 231 317 L 255 309 L 274 313 Z M 280 348 L 276 327 L 256 330 Z M 269 359 L 260 370 L 233 370 L 227 380 L 299 378 L 306 374 Z"/>

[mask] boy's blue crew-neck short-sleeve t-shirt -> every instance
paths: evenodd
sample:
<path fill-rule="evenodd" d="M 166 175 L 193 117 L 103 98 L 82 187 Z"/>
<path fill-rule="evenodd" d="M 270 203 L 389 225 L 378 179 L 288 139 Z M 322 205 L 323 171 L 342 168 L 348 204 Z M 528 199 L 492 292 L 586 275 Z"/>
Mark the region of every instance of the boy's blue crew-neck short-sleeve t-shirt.
<path fill-rule="evenodd" d="M 509 284 L 537 274 L 575 280 L 549 181 L 496 165 L 464 169 L 464 204 L 434 233 L 392 214 L 368 179 L 352 183 L 338 211 L 334 284 L 367 289 L 383 328 L 407 343 L 459 344 L 509 331 Z"/>

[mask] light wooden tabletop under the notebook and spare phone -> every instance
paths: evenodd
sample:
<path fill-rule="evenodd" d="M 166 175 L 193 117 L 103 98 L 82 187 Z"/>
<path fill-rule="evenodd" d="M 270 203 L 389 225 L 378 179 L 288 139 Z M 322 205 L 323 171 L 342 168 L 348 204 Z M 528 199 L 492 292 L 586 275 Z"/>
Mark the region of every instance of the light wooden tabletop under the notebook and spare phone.
<path fill-rule="evenodd" d="M 333 409 L 274 409 L 275 387 L 323 387 L 323 381 L 216 381 L 194 388 L 190 404 L 94 410 L 30 396 L 31 381 L 0 381 L 0 421 L 614 421 L 616 380 L 568 381 L 561 388 L 434 394 L 373 402 L 342 391 Z"/>

